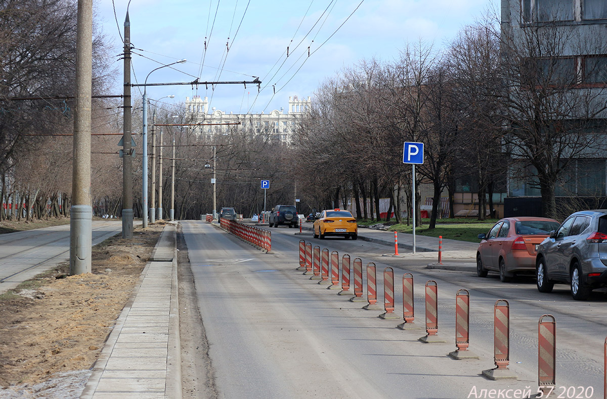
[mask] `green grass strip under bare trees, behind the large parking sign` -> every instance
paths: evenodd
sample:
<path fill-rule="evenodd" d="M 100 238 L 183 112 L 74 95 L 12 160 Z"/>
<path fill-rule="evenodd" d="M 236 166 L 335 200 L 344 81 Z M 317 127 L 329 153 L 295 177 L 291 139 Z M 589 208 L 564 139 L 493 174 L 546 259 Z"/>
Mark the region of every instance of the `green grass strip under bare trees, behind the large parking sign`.
<path fill-rule="evenodd" d="M 498 220 L 470 220 L 470 219 L 439 219 L 436 220 L 436 229 L 429 229 L 430 219 L 422 219 L 422 226 L 415 229 L 415 233 L 430 237 L 443 236 L 450 240 L 469 241 L 470 243 L 480 243 L 478 235 L 489 231 L 493 224 Z M 376 221 L 362 221 L 358 225 L 362 227 L 376 224 Z M 392 220 L 395 223 L 395 220 Z M 393 224 L 390 226 L 390 231 L 401 233 L 413 233 L 413 227 L 407 224 Z"/>

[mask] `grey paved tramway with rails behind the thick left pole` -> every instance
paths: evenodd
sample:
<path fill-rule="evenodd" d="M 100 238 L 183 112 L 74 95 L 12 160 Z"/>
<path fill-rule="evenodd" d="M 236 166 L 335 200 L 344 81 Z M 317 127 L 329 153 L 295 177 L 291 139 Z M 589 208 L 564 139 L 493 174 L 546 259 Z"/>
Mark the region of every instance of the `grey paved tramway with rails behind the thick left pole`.
<path fill-rule="evenodd" d="M 92 243 L 101 243 L 121 230 L 121 221 L 93 221 Z M 0 293 L 69 257 L 69 224 L 0 235 Z"/>

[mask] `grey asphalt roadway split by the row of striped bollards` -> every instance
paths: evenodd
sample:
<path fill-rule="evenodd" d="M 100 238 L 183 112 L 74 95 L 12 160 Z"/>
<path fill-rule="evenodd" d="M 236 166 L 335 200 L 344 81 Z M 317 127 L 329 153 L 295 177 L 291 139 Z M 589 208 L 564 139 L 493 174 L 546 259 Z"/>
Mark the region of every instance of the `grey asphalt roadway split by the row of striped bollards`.
<path fill-rule="evenodd" d="M 426 258 L 381 257 L 385 246 L 364 241 L 318 240 L 271 229 L 272 252 L 263 253 L 210 224 L 182 222 L 194 275 L 198 306 L 220 397 L 225 398 L 467 398 L 481 390 L 537 389 L 538 319 L 557 321 L 557 394 L 575 387 L 581 397 L 603 395 L 603 344 L 607 334 L 607 295 L 573 301 L 568 287 L 539 293 L 521 278 L 500 283 L 497 275 L 424 269 Z M 300 239 L 373 261 L 378 270 L 378 303 L 383 302 L 381 271 L 395 268 L 396 314 L 402 315 L 401 279 L 415 278 L 416 324 L 424 320 L 424 284 L 438 284 L 439 337 L 423 344 L 425 331 L 399 330 L 402 320 L 378 318 L 336 290 L 297 272 Z M 365 284 L 366 287 L 366 284 Z M 470 291 L 470 350 L 480 360 L 456 361 L 455 293 Z M 490 381 L 481 372 L 493 363 L 493 305 L 510 303 L 510 371 L 518 381 Z M 489 391 L 487 391 L 489 392 Z M 510 397 L 514 391 L 510 392 Z M 565 393 L 562 397 L 568 396 Z M 586 396 L 585 396 L 586 395 Z M 480 396 L 478 396 L 480 397 Z"/>

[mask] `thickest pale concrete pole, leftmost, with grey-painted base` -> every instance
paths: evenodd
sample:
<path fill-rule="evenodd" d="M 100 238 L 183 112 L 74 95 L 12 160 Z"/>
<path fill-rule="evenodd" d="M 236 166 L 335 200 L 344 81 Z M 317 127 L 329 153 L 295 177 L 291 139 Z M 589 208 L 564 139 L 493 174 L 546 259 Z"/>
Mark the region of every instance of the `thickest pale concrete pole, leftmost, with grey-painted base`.
<path fill-rule="evenodd" d="M 70 275 L 90 273 L 92 207 L 90 194 L 90 124 L 93 2 L 78 0 L 76 32 L 76 109 L 73 131 Z"/>

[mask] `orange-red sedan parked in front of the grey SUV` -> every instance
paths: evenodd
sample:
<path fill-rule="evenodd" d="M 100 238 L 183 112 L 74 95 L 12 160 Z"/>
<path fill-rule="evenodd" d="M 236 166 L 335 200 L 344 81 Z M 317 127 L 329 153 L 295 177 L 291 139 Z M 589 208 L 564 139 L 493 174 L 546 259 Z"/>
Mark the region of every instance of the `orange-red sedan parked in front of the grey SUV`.
<path fill-rule="evenodd" d="M 479 234 L 476 250 L 476 275 L 486 277 L 487 271 L 500 273 L 506 283 L 516 274 L 535 273 L 537 246 L 558 227 L 558 221 L 547 218 L 504 218 L 486 234 Z"/>

